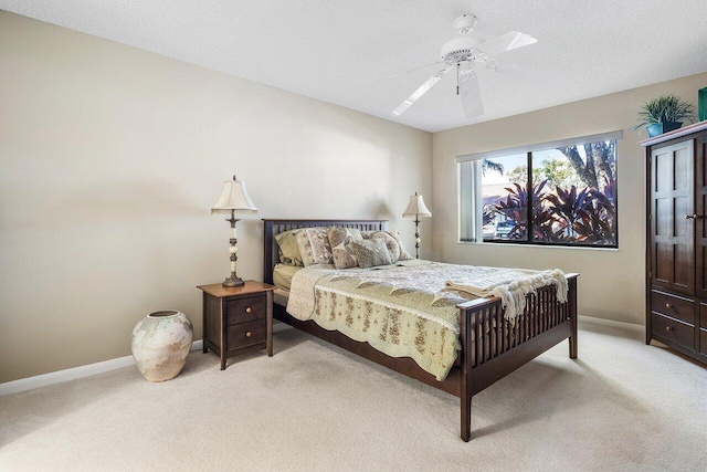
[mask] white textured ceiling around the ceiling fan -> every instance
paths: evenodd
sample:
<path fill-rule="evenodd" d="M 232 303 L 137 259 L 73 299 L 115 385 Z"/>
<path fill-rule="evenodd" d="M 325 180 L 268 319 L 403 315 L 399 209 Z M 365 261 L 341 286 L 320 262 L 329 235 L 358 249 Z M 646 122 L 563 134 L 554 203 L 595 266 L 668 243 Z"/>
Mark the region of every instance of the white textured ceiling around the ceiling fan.
<path fill-rule="evenodd" d="M 0 9 L 437 132 L 707 72 L 707 0 L 0 0 Z M 482 70 L 486 113 L 465 119 L 447 75 L 394 109 L 439 69 L 452 21 L 537 44 Z M 690 97 L 694 98 L 694 97 Z"/>

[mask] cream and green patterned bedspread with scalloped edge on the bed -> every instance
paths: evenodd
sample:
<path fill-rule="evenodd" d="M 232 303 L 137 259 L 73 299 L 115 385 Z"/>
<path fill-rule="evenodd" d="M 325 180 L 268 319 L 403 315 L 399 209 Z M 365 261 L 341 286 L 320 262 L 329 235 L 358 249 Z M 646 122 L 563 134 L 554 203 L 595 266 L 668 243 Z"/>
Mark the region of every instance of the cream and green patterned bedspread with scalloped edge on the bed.
<path fill-rule="evenodd" d="M 370 269 L 313 265 L 294 275 L 287 312 L 367 342 L 389 356 L 412 357 L 425 371 L 443 380 L 461 348 L 457 304 L 478 295 L 500 295 L 515 316 L 525 307 L 518 312 L 520 297 L 525 303 L 526 293 L 548 283 L 556 283 L 558 295 L 566 296 L 567 281 L 560 271 L 419 260 Z"/>

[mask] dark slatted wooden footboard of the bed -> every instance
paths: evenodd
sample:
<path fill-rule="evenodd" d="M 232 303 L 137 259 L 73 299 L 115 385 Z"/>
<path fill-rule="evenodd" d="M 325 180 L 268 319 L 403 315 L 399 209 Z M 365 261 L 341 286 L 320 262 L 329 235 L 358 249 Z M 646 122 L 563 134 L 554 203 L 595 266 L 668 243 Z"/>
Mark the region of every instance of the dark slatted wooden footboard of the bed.
<path fill-rule="evenodd" d="M 500 300 L 479 298 L 458 305 L 461 437 L 472 438 L 472 397 L 529 363 L 563 339 L 570 358 L 577 358 L 577 277 L 567 276 L 568 301 L 557 300 L 555 286 L 528 295 L 527 306 L 515 323 L 504 318 Z"/>

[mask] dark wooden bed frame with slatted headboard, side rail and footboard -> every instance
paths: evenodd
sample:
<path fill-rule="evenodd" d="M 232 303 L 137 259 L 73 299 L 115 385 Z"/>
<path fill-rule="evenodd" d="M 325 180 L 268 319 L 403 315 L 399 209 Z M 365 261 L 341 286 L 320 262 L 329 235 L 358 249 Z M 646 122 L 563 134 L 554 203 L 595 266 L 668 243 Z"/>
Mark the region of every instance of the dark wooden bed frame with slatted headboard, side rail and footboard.
<path fill-rule="evenodd" d="M 346 227 L 361 231 L 383 230 L 387 220 L 271 220 L 264 219 L 263 281 L 273 283 L 273 269 L 279 262 L 273 237 L 298 228 Z M 335 344 L 361 357 L 386 366 L 408 377 L 455 395 L 461 399 L 461 436 L 472 437 L 472 397 L 518 367 L 532 360 L 558 343 L 569 339 L 570 358 L 577 358 L 577 277 L 568 274 L 569 294 L 559 303 L 555 285 L 528 295 L 527 307 L 515 326 L 504 319 L 500 300 L 478 298 L 462 303 L 460 308 L 462 350 L 443 381 L 422 370 L 410 357 L 390 357 L 368 343 L 354 340 L 339 332 L 327 331 L 313 321 L 294 318 L 282 305 L 275 304 L 276 319 Z"/>

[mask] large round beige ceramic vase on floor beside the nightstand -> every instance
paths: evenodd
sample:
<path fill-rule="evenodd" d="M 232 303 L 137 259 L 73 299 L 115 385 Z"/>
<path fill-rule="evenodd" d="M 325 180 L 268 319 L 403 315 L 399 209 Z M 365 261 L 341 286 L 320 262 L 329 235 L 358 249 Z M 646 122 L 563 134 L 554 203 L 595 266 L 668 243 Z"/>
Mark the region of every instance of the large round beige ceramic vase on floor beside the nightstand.
<path fill-rule="evenodd" d="M 133 357 L 149 381 L 179 375 L 191 349 L 191 321 L 176 310 L 150 313 L 133 329 Z"/>

